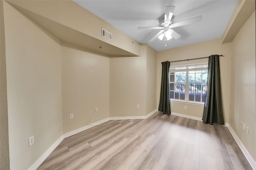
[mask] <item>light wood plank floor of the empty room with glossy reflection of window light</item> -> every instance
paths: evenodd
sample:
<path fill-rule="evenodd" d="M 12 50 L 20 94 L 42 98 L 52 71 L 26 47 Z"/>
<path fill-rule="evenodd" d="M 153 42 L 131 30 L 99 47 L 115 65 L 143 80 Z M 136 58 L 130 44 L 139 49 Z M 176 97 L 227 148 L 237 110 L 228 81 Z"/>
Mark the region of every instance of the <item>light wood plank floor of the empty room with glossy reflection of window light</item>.
<path fill-rule="evenodd" d="M 227 127 L 155 113 L 65 138 L 38 170 L 252 169 Z"/>

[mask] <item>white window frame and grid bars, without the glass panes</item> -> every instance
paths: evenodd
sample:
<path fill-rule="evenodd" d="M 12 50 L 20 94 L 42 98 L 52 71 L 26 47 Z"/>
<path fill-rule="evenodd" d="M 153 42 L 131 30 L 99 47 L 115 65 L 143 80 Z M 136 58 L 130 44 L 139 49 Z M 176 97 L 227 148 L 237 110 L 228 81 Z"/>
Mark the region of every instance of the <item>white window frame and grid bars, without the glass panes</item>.
<path fill-rule="evenodd" d="M 195 68 L 189 68 L 189 67 L 192 67 L 192 66 L 194 66 Z M 198 66 L 198 68 L 196 66 Z M 184 68 L 182 69 L 182 67 L 184 67 Z M 169 87 L 170 87 L 170 83 L 174 83 L 174 88 L 173 88 L 173 90 L 169 89 L 169 91 L 174 92 L 174 99 L 170 98 L 170 101 L 181 102 L 181 103 L 192 103 L 192 104 L 196 104 L 196 105 L 197 104 L 204 105 L 204 102 L 201 102 L 202 101 L 202 92 L 200 92 L 200 102 L 198 102 L 198 101 L 189 101 L 189 84 L 194 84 L 194 85 L 200 84 L 201 87 L 202 87 L 202 85 L 207 85 L 207 80 L 206 80 L 206 82 L 202 82 L 202 80 L 201 80 L 201 82 L 196 82 L 196 80 L 194 80 L 195 82 L 188 82 L 188 75 L 189 75 L 188 72 L 189 71 L 195 71 L 195 73 L 196 73 L 196 71 L 204 71 L 204 70 L 208 71 L 208 62 L 191 63 L 191 64 L 184 64 L 184 65 L 171 65 L 170 69 L 169 69 L 169 74 L 168 74 L 168 76 L 169 76 Z M 180 81 L 178 82 L 180 84 L 181 83 L 185 84 L 185 98 L 184 98 L 184 100 L 180 99 L 180 93 L 179 93 L 179 99 L 175 99 L 175 88 L 176 88 L 175 83 L 177 83 L 176 78 L 175 78 L 175 75 L 176 75 L 175 72 L 186 72 L 186 82 L 180 82 Z M 171 73 L 174 73 L 173 74 L 174 75 L 174 80 L 173 81 L 170 80 Z M 206 87 L 205 87 L 205 92 L 206 92 Z M 194 97 L 195 97 L 195 94 L 196 94 L 196 92 L 194 93 Z M 195 100 L 195 98 L 194 98 L 194 100 Z"/>

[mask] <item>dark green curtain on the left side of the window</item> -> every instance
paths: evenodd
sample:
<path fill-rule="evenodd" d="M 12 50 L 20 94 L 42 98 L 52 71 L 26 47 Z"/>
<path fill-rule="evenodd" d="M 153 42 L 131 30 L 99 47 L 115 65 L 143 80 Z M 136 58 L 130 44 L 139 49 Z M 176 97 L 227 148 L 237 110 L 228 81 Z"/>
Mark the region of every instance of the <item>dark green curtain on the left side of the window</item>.
<path fill-rule="evenodd" d="M 171 114 L 170 90 L 169 90 L 169 67 L 170 62 L 162 62 L 162 81 L 158 111 L 164 114 Z"/>

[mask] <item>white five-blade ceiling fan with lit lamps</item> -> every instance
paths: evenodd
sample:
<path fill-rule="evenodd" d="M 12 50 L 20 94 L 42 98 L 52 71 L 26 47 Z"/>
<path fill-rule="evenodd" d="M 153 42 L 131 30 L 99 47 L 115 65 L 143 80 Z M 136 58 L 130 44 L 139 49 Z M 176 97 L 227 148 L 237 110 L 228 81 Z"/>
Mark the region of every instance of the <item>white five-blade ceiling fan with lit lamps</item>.
<path fill-rule="evenodd" d="M 158 29 L 160 32 L 158 32 L 149 42 L 154 41 L 156 38 L 159 38 L 160 40 L 170 40 L 172 37 L 177 40 L 180 38 L 180 35 L 176 33 L 172 28 L 184 26 L 187 24 L 192 24 L 195 22 L 200 22 L 202 20 L 202 16 L 197 16 L 194 18 L 190 18 L 188 20 L 184 20 L 181 22 L 172 23 L 172 15 L 174 12 L 175 6 L 166 6 L 165 8 L 165 15 L 164 15 L 164 22 L 160 24 L 159 27 L 138 27 L 138 30 L 153 30 Z M 166 46 L 166 44 L 165 44 Z"/>

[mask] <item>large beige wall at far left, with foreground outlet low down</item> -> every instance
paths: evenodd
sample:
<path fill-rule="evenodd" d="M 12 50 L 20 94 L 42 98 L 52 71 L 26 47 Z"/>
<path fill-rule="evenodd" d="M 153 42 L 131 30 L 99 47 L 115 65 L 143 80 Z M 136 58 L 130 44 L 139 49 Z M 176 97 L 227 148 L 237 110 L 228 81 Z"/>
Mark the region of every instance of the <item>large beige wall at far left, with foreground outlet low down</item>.
<path fill-rule="evenodd" d="M 63 134 L 60 42 L 5 1 L 4 24 L 10 169 L 28 169 Z"/>

